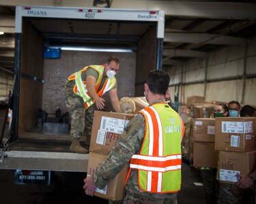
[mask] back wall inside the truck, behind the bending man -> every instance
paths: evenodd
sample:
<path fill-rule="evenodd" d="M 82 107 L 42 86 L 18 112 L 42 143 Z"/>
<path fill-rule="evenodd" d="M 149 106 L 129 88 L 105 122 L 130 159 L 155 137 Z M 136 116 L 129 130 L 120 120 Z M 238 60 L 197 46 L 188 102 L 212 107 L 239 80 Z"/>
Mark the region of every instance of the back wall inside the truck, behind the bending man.
<path fill-rule="evenodd" d="M 135 53 L 62 51 L 61 58 L 44 59 L 42 109 L 48 114 L 55 114 L 57 107 L 61 109 L 61 114 L 67 112 L 63 84 L 68 80 L 68 76 L 87 65 L 102 65 L 109 56 L 116 56 L 120 61 L 116 75 L 119 99 L 134 97 Z M 107 101 L 104 111 L 113 110 L 108 93 L 103 95 L 103 98 Z"/>

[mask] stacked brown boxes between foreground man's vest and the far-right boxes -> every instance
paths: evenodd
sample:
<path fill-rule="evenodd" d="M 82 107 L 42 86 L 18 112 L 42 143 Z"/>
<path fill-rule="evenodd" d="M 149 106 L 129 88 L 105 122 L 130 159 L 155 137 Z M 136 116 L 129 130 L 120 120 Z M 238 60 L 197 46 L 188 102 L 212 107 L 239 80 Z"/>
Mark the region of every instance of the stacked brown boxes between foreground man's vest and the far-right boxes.
<path fill-rule="evenodd" d="M 217 168 L 218 151 L 214 149 L 215 119 L 193 119 L 193 166 Z"/>

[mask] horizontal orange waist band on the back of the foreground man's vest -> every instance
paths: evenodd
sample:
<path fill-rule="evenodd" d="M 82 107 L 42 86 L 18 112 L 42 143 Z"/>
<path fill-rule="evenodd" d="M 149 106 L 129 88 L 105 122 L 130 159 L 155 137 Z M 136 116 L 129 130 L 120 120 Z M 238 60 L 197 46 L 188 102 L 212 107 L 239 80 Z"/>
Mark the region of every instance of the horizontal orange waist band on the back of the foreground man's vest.
<path fill-rule="evenodd" d="M 182 165 L 182 159 L 176 158 L 171 160 L 159 161 L 159 160 L 144 160 L 139 158 L 131 158 L 130 163 L 132 165 L 142 165 L 145 167 L 159 167 L 165 168 L 169 166 Z"/>

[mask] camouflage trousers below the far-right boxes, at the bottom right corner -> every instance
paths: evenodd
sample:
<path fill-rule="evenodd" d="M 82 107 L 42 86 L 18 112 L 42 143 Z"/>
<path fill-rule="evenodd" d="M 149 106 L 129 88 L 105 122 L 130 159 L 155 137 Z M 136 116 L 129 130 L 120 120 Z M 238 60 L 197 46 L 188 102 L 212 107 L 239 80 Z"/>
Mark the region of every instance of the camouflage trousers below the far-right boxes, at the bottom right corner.
<path fill-rule="evenodd" d="M 233 184 L 220 183 L 217 203 L 225 204 L 253 204 L 254 190 L 251 188 L 242 189 Z"/>

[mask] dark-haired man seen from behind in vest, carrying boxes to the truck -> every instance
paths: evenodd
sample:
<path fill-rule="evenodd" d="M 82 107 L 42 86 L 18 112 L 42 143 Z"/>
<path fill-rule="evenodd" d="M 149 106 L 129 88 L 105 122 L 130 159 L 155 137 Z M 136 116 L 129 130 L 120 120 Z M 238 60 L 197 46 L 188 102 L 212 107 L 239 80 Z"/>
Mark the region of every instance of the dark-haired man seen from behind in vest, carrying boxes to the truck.
<path fill-rule="evenodd" d="M 124 203 L 177 204 L 184 122 L 165 101 L 169 80 L 168 73 L 162 70 L 147 75 L 144 94 L 149 107 L 130 120 L 96 172 L 85 178 L 86 194 L 93 196 L 96 187 L 104 188 L 130 163 Z"/>

